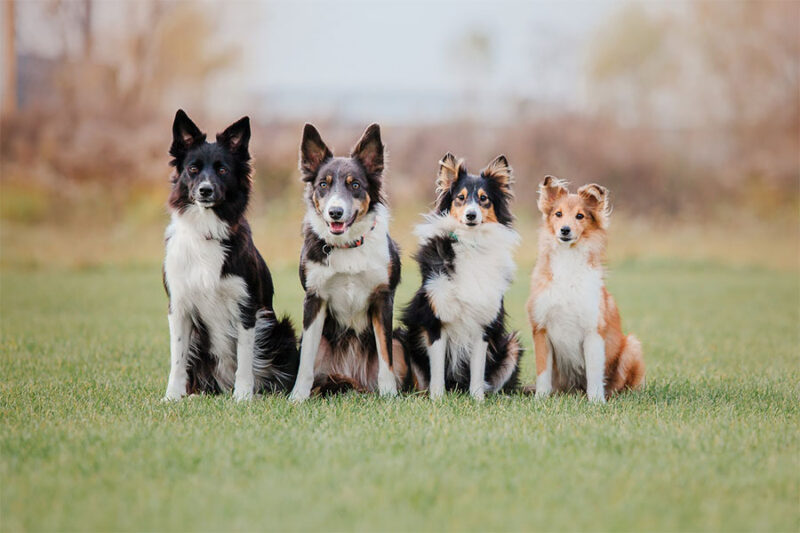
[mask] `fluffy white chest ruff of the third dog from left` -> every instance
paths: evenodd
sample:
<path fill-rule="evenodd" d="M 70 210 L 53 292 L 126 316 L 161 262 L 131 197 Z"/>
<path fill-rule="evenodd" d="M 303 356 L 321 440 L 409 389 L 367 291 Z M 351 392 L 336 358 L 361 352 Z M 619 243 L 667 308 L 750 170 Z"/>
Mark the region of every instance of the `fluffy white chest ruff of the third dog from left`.
<path fill-rule="evenodd" d="M 455 272 L 432 277 L 425 291 L 442 321 L 451 353 L 465 353 L 500 311 L 503 295 L 513 280 L 513 249 L 519 237 L 501 224 L 467 228 L 452 217 L 429 218 L 417 228 L 425 240 L 453 232 Z"/>

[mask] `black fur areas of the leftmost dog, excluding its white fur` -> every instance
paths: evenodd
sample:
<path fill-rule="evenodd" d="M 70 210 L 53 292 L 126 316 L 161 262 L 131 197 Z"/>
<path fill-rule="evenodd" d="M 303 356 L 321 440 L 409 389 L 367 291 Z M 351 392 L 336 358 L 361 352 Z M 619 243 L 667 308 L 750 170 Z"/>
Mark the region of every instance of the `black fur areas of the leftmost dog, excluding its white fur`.
<path fill-rule="evenodd" d="M 182 213 L 197 203 L 198 186 L 207 182 L 213 187 L 211 201 L 214 213 L 230 228 L 222 241 L 226 256 L 220 276 L 237 276 L 244 280 L 248 299 L 240 303 L 240 319 L 245 329 L 253 328 L 259 320 L 274 320 L 272 276 L 253 243 L 245 211 L 250 198 L 252 166 L 248 143 L 250 122 L 247 117 L 235 122 L 218 134 L 215 143 L 206 142 L 206 135 L 179 110 L 172 127 L 173 140 L 170 164 L 175 167 L 169 206 Z M 211 238 L 209 236 L 208 238 Z M 164 287 L 170 295 L 164 276 Z M 270 318 L 272 317 L 272 318 Z M 193 316 L 191 356 L 189 359 L 188 393 L 219 393 L 214 379 L 215 358 L 209 353 L 210 341 L 202 317 Z M 272 324 L 272 322 L 270 322 Z M 261 390 L 289 390 L 297 374 L 299 355 L 294 329 L 288 319 L 274 321 L 262 327 L 256 336 L 256 364 L 277 370 L 256 382 Z"/>

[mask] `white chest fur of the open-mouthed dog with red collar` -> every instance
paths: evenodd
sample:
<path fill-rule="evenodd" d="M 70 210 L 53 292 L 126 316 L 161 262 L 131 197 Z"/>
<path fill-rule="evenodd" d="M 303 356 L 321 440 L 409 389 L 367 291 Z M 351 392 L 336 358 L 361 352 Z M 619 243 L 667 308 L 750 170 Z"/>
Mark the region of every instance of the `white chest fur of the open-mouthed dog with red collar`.
<path fill-rule="evenodd" d="M 389 283 L 388 214 L 378 214 L 375 229 L 356 248 L 333 248 L 327 264 L 306 263 L 306 287 L 327 302 L 340 325 L 361 333 L 369 326 L 369 298 Z"/>

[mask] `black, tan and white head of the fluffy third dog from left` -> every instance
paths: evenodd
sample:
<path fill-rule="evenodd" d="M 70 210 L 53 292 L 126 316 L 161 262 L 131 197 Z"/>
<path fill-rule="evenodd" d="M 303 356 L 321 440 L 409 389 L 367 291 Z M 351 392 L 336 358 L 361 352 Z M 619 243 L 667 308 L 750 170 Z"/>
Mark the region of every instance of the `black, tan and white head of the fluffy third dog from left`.
<path fill-rule="evenodd" d="M 447 153 L 439 161 L 436 179 L 437 210 L 449 213 L 465 226 L 479 226 L 499 222 L 510 226 L 513 222 L 509 203 L 514 197 L 511 167 L 503 155 L 484 168 L 480 175 L 470 174 L 462 159 Z"/>

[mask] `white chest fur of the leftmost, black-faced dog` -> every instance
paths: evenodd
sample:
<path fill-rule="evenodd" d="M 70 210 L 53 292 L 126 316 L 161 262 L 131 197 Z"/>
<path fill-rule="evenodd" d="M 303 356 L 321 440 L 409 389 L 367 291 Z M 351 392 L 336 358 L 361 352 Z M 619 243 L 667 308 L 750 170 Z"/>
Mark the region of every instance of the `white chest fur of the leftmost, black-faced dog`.
<path fill-rule="evenodd" d="M 221 276 L 225 248 L 221 240 L 228 226 L 210 209 L 189 207 L 174 213 L 166 231 L 164 274 L 172 312 L 203 322 L 211 352 L 219 359 L 235 359 L 239 304 L 247 288 L 238 276 Z"/>

